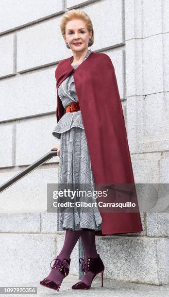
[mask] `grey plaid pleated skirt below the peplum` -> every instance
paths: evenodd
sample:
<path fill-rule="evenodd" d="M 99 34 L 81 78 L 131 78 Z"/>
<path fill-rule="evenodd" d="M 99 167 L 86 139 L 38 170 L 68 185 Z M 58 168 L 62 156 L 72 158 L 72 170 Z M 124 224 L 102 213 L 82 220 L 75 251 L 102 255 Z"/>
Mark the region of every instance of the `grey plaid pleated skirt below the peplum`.
<path fill-rule="evenodd" d="M 72 127 L 61 133 L 60 156 L 59 156 L 59 189 L 62 190 L 66 184 L 71 184 L 71 190 L 94 191 L 95 184 L 90 163 L 90 155 L 84 129 Z M 78 187 L 77 187 L 78 184 Z M 70 201 L 70 200 L 69 200 Z M 73 207 L 57 207 L 57 231 L 63 230 L 101 230 L 101 214 L 98 206 L 81 206 L 82 202 L 93 203 L 96 199 L 92 197 L 74 197 L 71 200 Z M 62 202 L 62 198 L 58 198 Z M 64 199 L 65 202 L 65 199 Z M 63 211 L 64 210 L 64 211 Z"/>

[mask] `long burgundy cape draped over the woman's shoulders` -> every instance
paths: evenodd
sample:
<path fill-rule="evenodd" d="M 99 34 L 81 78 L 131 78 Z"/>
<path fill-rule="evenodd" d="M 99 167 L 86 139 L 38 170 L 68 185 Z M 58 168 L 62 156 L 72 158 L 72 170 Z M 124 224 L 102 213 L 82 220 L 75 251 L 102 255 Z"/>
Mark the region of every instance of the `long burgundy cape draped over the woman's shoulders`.
<path fill-rule="evenodd" d="M 76 69 L 70 64 L 71 58 L 59 62 L 55 70 L 57 122 L 65 114 L 58 87 L 73 72 L 94 182 L 135 185 L 123 109 L 110 57 L 92 51 Z M 101 231 L 96 235 L 141 232 L 138 204 L 137 209 L 138 212 L 100 212 Z"/>

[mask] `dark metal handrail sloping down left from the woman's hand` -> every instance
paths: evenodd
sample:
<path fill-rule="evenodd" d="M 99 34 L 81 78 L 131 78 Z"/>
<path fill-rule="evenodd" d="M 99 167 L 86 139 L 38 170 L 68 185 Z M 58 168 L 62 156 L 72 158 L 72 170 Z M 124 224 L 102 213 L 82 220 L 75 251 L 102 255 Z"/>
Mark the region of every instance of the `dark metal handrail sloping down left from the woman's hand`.
<path fill-rule="evenodd" d="M 33 164 L 29 165 L 19 173 L 17 173 L 14 177 L 12 177 L 10 180 L 4 182 L 2 185 L 0 185 L 0 193 L 5 191 L 7 188 L 12 186 L 17 181 L 21 180 L 23 177 L 25 177 L 27 174 L 31 173 L 34 169 L 39 167 L 40 165 L 46 163 L 51 158 L 57 156 L 57 149 L 53 149 L 49 151 L 46 155 L 42 156 L 40 159 L 35 161 Z"/>

